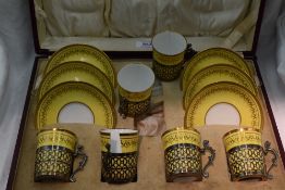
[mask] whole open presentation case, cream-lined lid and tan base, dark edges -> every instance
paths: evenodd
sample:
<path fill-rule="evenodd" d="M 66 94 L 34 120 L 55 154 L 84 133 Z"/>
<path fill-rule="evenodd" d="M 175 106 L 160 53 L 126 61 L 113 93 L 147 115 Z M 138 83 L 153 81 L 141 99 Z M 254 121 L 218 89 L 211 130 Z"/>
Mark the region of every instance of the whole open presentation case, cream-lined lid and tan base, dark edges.
<path fill-rule="evenodd" d="M 270 107 L 270 102 L 267 96 L 267 90 L 262 83 L 262 77 L 259 72 L 258 60 L 256 56 L 256 49 L 258 46 L 259 31 L 262 21 L 262 13 L 264 9 L 264 0 L 252 0 L 252 1 L 243 1 L 245 4 L 234 3 L 234 1 L 230 1 L 233 4 L 239 5 L 238 8 L 243 9 L 240 11 L 238 18 L 233 22 L 232 27 L 222 28 L 222 30 L 215 30 L 216 27 L 213 27 L 213 31 L 206 31 L 207 28 L 211 28 L 214 25 L 213 21 L 208 23 L 208 27 L 203 27 L 202 23 L 198 24 L 199 31 L 190 30 L 187 31 L 187 22 L 191 20 L 173 20 L 172 22 L 165 22 L 168 24 L 163 24 L 163 18 L 171 17 L 174 13 L 177 13 L 178 7 L 176 4 L 175 9 L 170 8 L 171 2 L 169 1 L 156 1 L 156 8 L 151 7 L 151 3 L 154 0 L 149 1 L 129 1 L 128 5 L 124 1 L 121 0 L 122 7 L 119 1 L 112 0 L 102 0 L 98 2 L 94 2 L 91 0 L 85 0 L 83 2 L 76 1 L 59 1 L 62 3 L 58 3 L 54 1 L 50 1 L 51 3 L 47 3 L 45 0 L 30 0 L 30 15 L 33 21 L 33 30 L 34 30 L 34 41 L 35 49 L 37 52 L 37 58 L 35 58 L 35 64 L 33 68 L 33 73 L 30 76 L 30 83 L 28 87 L 28 92 L 25 102 L 25 109 L 23 112 L 23 118 L 21 122 L 18 136 L 16 140 L 16 145 L 14 149 L 14 156 L 11 165 L 10 176 L 7 189 L 283 189 L 285 187 L 285 181 L 283 180 L 285 177 L 285 153 L 284 148 L 281 142 L 281 137 L 278 135 L 278 130 L 274 121 L 274 115 L 272 114 L 272 110 Z M 101 3 L 100 3 L 101 2 Z M 181 1 L 184 2 L 183 0 Z M 207 1 L 208 2 L 208 1 Z M 232 10 L 225 10 L 227 7 L 222 7 L 219 4 L 222 1 L 212 1 L 207 3 L 194 3 L 197 7 L 189 5 L 189 12 L 191 14 L 200 15 L 200 20 L 202 15 L 206 18 L 211 18 L 211 14 L 206 14 L 211 12 L 213 9 L 214 14 L 219 17 L 219 14 L 223 13 L 226 17 Z M 241 1 L 240 1 L 241 2 Z M 50 4 L 57 4 L 57 8 L 50 7 Z M 146 3 L 146 4 L 144 4 Z M 165 5 L 166 3 L 170 3 Z M 185 2 L 184 2 L 185 3 Z M 73 5 L 73 9 L 78 9 L 77 12 L 82 12 L 83 4 L 85 4 L 87 12 L 90 14 L 96 12 L 100 12 L 94 8 L 101 8 L 101 18 L 98 16 L 94 18 L 94 22 L 99 22 L 95 24 L 94 22 L 88 23 L 84 22 L 85 26 L 89 26 L 89 24 L 95 24 L 95 28 L 98 26 L 102 27 L 101 29 L 94 29 L 92 27 L 87 27 L 88 33 L 85 34 L 85 29 L 82 28 L 79 30 L 74 29 L 74 33 L 71 28 L 73 27 L 82 27 L 78 24 L 78 17 L 74 16 L 74 10 L 70 7 Z M 163 4 L 165 7 L 163 7 Z M 228 5 L 228 3 L 226 3 Z M 231 3 L 230 3 L 231 4 Z M 123 9 L 127 7 L 127 9 Z M 145 11 L 129 11 L 129 9 L 134 5 L 135 9 L 146 9 Z M 173 4 L 172 4 L 173 5 Z M 187 3 L 186 3 L 187 5 Z M 164 9 L 161 9 L 161 8 Z M 174 7 L 174 5 L 173 5 Z M 122 8 L 121 17 L 115 17 L 120 15 L 114 10 L 117 11 L 117 8 Z M 183 7 L 185 9 L 187 7 Z M 221 9 L 223 8 L 223 9 Z M 63 9 L 63 10 L 62 10 Z M 198 9 L 198 10 L 197 10 Z M 200 10 L 199 10 L 200 9 Z M 228 7 L 228 9 L 233 9 Z M 66 11 L 62 12 L 62 14 L 55 14 L 51 10 L 55 11 Z M 154 11 L 153 11 L 154 10 Z M 168 10 L 168 11 L 165 11 Z M 176 10 L 176 12 L 175 12 Z M 149 12 L 148 12 L 149 11 Z M 153 13 L 152 13 L 152 12 Z M 218 13 L 216 13 L 218 12 Z M 232 11 L 234 14 L 235 12 Z M 129 16 L 133 15 L 134 20 L 131 20 Z M 71 27 L 70 30 L 65 31 L 58 29 L 54 23 L 54 20 L 60 21 L 63 15 L 63 18 L 71 18 L 67 21 L 64 27 Z M 154 22 L 147 29 L 146 33 L 144 30 L 141 33 L 134 31 L 137 28 L 144 29 L 144 26 L 138 27 L 139 25 L 135 25 L 135 21 L 145 21 L 141 15 L 147 16 L 148 18 L 153 17 Z M 175 14 L 176 15 L 176 14 Z M 179 15 L 177 13 L 177 15 Z M 57 17 L 58 16 L 58 17 Z M 140 16 L 140 17 L 139 17 Z M 164 17 L 163 17 L 164 16 Z M 131 16 L 132 17 L 132 16 Z M 175 17 L 175 16 L 173 16 Z M 199 16 L 198 16 L 199 17 Z M 53 18 L 53 21 L 52 21 Z M 119 21 L 117 21 L 119 18 Z M 78 21 L 77 21 L 78 20 Z M 223 18 L 222 18 L 223 20 Z M 65 20 L 62 20 L 65 21 Z M 86 21 L 89 21 L 86 18 Z M 169 20 L 168 20 L 169 21 Z M 200 128 L 200 132 L 202 139 L 207 139 L 210 141 L 210 144 L 216 150 L 216 160 L 214 165 L 209 168 L 210 177 L 208 179 L 203 179 L 198 182 L 166 182 L 165 181 L 165 173 L 164 173 L 164 157 L 163 157 L 163 148 L 161 142 L 161 137 L 141 137 L 140 138 L 140 148 L 139 148 L 139 164 L 138 164 L 138 180 L 137 182 L 131 182 L 126 185 L 108 185 L 100 181 L 100 169 L 101 169 L 101 161 L 100 161 L 100 141 L 99 141 L 99 129 L 101 126 L 94 126 L 87 124 L 73 124 L 73 125 L 62 125 L 63 128 L 69 128 L 76 132 L 80 143 L 85 147 L 87 154 L 89 155 L 89 161 L 86 165 L 86 168 L 78 174 L 76 182 L 65 182 L 65 183 L 38 183 L 34 182 L 34 164 L 35 164 L 35 151 L 36 151 L 36 135 L 37 130 L 35 129 L 35 106 L 37 103 L 36 100 L 36 90 L 38 78 L 42 75 L 42 71 L 47 64 L 48 58 L 60 48 L 72 45 L 72 43 L 86 43 L 90 46 L 95 46 L 101 50 L 103 50 L 112 60 L 113 66 L 117 72 L 123 65 L 128 63 L 142 63 L 147 65 L 151 65 L 152 63 L 152 51 L 151 51 L 151 37 L 153 34 L 159 33 L 163 29 L 176 30 L 182 28 L 181 25 L 177 25 L 177 21 L 186 22 L 184 27 L 186 29 L 182 29 L 181 33 L 186 37 L 187 41 L 191 43 L 191 47 L 196 51 L 202 51 L 208 48 L 213 47 L 224 47 L 236 51 L 238 54 L 244 56 L 248 65 L 252 68 L 256 74 L 256 85 L 259 89 L 259 96 L 262 103 L 263 114 L 264 114 L 264 126 L 262 131 L 263 142 L 269 140 L 271 142 L 271 147 L 276 149 L 280 153 L 280 160 L 277 167 L 273 168 L 273 179 L 268 181 L 240 181 L 240 182 L 232 182 L 227 173 L 226 165 L 226 156 L 225 150 L 222 142 L 222 137 L 226 131 L 230 131 L 233 128 L 238 128 L 239 126 L 205 126 Z M 70 23 L 69 23 L 70 22 Z M 128 23 L 129 28 L 124 24 Z M 147 23 L 151 23 L 151 21 L 147 21 Z M 63 22 L 64 23 L 64 22 Z M 76 24 L 77 23 L 77 24 Z M 59 24 L 59 23 L 58 23 Z M 61 23 L 62 24 L 62 23 Z M 70 24 L 70 25 L 69 25 Z M 191 22 L 189 22 L 191 24 Z M 218 23 L 219 26 L 220 23 Z M 103 25 L 103 26 L 102 26 Z M 122 26 L 120 28 L 119 26 Z M 197 26 L 195 22 L 193 26 Z M 64 28 L 63 27 L 63 28 Z M 123 28 L 124 27 L 124 28 Z M 55 29 L 54 29 L 55 28 Z M 126 29 L 126 30 L 124 30 Z M 219 29 L 219 27 L 218 27 Z M 141 35 L 142 34 L 142 35 Z M 140 36 L 141 35 L 141 36 Z M 166 124 L 166 128 L 174 128 L 184 125 L 184 114 L 182 105 L 182 91 L 179 89 L 179 79 L 171 81 L 171 83 L 162 83 L 163 89 L 163 104 L 164 104 L 164 119 Z M 116 97 L 116 111 L 117 111 L 117 102 L 119 99 Z M 134 128 L 134 119 L 126 118 L 123 119 L 117 114 L 117 127 L 129 127 Z M 267 163 L 271 162 L 271 157 L 269 156 Z"/>

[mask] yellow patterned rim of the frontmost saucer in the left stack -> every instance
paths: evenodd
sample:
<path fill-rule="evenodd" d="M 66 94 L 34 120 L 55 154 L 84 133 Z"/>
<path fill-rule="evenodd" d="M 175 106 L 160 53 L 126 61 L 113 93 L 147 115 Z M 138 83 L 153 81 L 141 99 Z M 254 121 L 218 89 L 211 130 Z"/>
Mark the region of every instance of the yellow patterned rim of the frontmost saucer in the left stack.
<path fill-rule="evenodd" d="M 41 98 L 36 107 L 36 128 L 58 124 L 61 110 L 71 103 L 87 106 L 92 114 L 94 124 L 115 127 L 114 106 L 98 88 L 82 81 L 69 81 L 54 86 Z"/>

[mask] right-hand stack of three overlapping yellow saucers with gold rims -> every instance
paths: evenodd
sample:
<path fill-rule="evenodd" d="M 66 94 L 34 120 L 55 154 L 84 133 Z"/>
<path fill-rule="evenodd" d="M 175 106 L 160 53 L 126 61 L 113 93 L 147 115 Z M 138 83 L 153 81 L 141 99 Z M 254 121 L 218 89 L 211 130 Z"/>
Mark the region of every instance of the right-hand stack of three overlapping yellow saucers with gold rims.
<path fill-rule="evenodd" d="M 253 72 L 232 50 L 211 48 L 197 53 L 186 63 L 181 88 L 187 128 L 208 125 L 209 111 L 226 104 L 237 111 L 239 121 L 235 125 L 262 129 L 262 107 Z M 226 114 L 222 116 L 226 117 Z"/>

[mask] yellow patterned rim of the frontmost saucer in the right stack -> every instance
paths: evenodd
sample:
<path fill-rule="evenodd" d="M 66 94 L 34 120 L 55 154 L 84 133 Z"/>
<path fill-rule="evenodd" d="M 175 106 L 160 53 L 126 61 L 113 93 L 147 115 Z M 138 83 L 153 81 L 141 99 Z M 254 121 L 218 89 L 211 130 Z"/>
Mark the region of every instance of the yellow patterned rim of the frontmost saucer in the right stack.
<path fill-rule="evenodd" d="M 184 117 L 186 128 L 207 125 L 207 113 L 219 103 L 236 109 L 240 126 L 262 129 L 263 114 L 259 100 L 248 89 L 230 81 L 208 85 L 193 98 Z"/>

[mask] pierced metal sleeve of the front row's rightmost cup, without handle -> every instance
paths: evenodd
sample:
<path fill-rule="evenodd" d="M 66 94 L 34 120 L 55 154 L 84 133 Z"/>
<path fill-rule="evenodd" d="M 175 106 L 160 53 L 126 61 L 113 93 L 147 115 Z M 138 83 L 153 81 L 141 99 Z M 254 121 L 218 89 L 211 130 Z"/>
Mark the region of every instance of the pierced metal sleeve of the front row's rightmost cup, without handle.
<path fill-rule="evenodd" d="M 265 179 L 264 151 L 261 145 L 240 145 L 233 148 L 226 154 L 232 180 L 243 180 L 249 177 Z"/>

